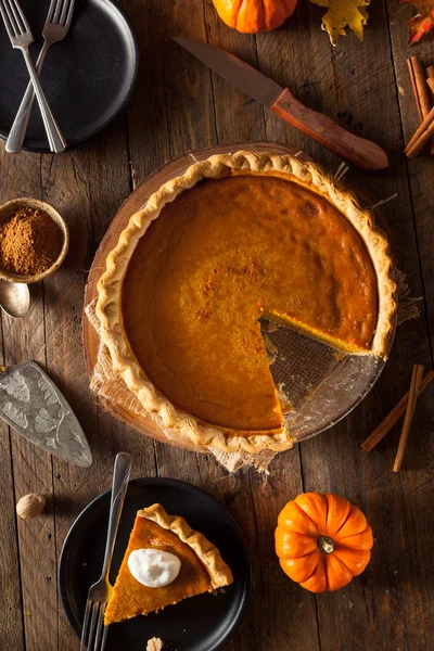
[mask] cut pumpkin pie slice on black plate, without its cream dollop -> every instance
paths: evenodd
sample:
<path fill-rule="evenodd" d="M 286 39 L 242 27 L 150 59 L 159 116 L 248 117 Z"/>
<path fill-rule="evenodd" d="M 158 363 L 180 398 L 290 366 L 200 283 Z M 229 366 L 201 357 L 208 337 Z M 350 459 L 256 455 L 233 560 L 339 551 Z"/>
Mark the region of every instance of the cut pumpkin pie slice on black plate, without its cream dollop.
<path fill-rule="evenodd" d="M 181 563 L 175 580 L 157 588 L 139 583 L 128 567 L 129 556 L 139 549 L 157 549 L 178 557 Z M 191 529 L 183 518 L 169 515 L 161 505 L 153 505 L 137 513 L 104 623 L 107 626 L 146 615 L 232 582 L 232 573 L 217 547 Z"/>

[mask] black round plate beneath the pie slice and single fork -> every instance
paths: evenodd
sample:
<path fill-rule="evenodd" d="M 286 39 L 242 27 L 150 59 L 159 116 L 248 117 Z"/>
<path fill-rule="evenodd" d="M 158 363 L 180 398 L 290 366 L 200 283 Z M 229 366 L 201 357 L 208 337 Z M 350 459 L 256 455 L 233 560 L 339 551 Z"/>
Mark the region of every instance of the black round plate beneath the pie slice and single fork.
<path fill-rule="evenodd" d="M 99 579 L 104 556 L 111 492 L 97 497 L 77 518 L 63 545 L 59 586 L 63 607 L 77 635 L 89 587 Z M 251 565 L 243 536 L 228 511 L 195 486 L 165 478 L 130 482 L 117 534 L 111 582 L 119 570 L 129 534 L 139 509 L 159 502 L 168 513 L 186 518 L 220 550 L 233 572 L 234 582 L 214 596 L 184 599 L 146 616 L 139 616 L 108 629 L 106 651 L 143 651 L 146 641 L 159 637 L 177 651 L 216 651 L 229 640 L 247 603 Z"/>

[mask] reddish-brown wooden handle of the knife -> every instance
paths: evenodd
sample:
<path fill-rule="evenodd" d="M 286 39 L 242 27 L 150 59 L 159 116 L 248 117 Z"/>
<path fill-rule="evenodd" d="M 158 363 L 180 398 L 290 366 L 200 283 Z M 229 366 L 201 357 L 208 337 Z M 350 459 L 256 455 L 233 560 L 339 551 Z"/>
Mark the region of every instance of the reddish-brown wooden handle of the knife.
<path fill-rule="evenodd" d="M 374 142 L 354 136 L 333 119 L 308 108 L 285 88 L 271 106 L 272 113 L 299 129 L 331 152 L 367 171 L 388 167 L 386 153 Z"/>

